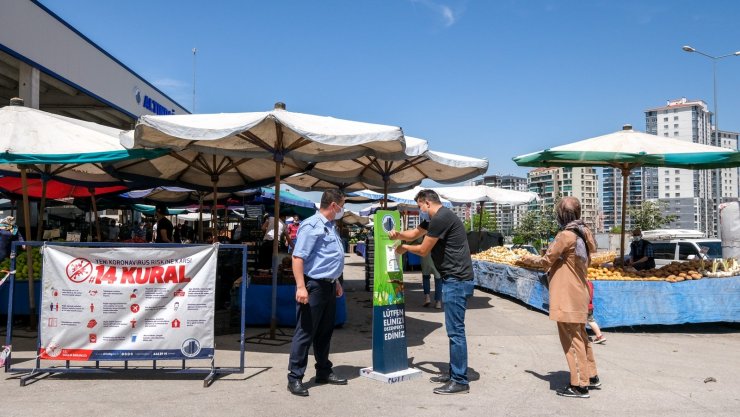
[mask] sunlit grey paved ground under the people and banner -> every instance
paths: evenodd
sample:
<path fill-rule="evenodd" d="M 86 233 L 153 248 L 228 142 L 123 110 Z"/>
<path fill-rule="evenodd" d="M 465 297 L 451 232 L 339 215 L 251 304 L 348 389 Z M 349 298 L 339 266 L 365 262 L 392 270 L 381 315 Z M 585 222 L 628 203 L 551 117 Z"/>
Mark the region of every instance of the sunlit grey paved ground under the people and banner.
<path fill-rule="evenodd" d="M 0 416 L 737 416 L 740 327 L 655 326 L 607 331 L 595 346 L 603 389 L 590 399 L 562 398 L 568 381 L 555 324 L 542 313 L 476 290 L 467 316 L 471 392 L 432 394 L 428 377 L 448 359 L 443 314 L 421 307 L 421 277 L 406 275 L 409 358 L 424 378 L 385 385 L 358 376 L 370 366 L 371 302 L 362 259 L 347 258 L 348 322 L 334 333 L 335 371 L 347 386 L 286 390 L 289 344 L 247 345 L 247 370 L 202 388 L 202 376 L 132 371 L 111 376 L 51 376 L 21 388 L 0 379 Z M 265 329 L 249 329 L 256 335 Z M 290 330 L 288 330 L 290 331 Z M 19 334 L 22 336 L 22 334 Z M 219 336 L 217 365 L 238 364 L 238 336 Z M 16 358 L 31 358 L 16 338 Z M 308 376 L 313 360 L 309 362 Z M 704 382 L 712 377 L 716 382 Z"/>

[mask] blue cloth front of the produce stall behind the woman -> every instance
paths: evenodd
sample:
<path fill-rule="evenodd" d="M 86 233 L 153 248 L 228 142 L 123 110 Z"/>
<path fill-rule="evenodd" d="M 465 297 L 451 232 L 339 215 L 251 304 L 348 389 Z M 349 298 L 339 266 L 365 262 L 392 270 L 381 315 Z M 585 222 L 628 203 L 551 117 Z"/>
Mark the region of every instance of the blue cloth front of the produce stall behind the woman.
<path fill-rule="evenodd" d="M 545 273 L 473 260 L 476 285 L 548 311 Z M 666 281 L 593 281 L 602 328 L 740 321 L 740 276 Z"/>

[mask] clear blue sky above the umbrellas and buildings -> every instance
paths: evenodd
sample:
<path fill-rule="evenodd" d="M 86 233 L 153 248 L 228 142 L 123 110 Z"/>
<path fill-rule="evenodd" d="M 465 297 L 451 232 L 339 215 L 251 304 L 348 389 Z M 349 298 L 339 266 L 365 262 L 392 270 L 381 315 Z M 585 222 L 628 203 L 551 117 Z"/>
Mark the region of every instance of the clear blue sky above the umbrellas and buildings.
<path fill-rule="evenodd" d="M 41 0 L 196 112 L 288 110 L 400 125 L 490 161 L 619 130 L 680 97 L 712 105 L 711 55 L 740 50 L 740 2 Z M 740 131 L 740 57 L 717 66 Z"/>

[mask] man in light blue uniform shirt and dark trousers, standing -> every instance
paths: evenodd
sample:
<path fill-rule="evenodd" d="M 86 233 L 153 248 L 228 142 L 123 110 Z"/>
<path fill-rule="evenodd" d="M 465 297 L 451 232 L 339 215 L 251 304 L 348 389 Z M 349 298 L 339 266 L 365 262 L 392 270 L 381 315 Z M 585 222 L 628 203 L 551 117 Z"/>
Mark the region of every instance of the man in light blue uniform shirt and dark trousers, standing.
<path fill-rule="evenodd" d="M 325 191 L 319 211 L 301 223 L 293 248 L 297 323 L 288 363 L 288 391 L 308 396 L 303 375 L 313 344 L 317 384 L 346 385 L 332 371 L 329 345 L 334 331 L 336 299 L 343 290 L 338 278 L 344 270 L 344 250 L 334 220 L 344 215 L 344 194 Z"/>

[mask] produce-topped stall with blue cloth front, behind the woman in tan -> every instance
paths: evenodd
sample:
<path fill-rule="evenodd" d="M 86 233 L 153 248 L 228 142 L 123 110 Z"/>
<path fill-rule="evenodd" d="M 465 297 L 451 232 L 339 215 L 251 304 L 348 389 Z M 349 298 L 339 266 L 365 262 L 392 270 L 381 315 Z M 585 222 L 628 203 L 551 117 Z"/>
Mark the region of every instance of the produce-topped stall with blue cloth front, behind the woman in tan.
<path fill-rule="evenodd" d="M 549 293 L 544 271 L 526 268 L 516 252 L 501 247 L 474 258 L 478 258 L 473 260 L 478 287 L 548 311 Z M 486 258 L 494 262 L 484 260 Z M 675 263 L 641 273 L 592 267 L 589 279 L 594 284 L 594 317 L 602 328 L 738 322 L 739 274 L 740 270 L 730 261 L 706 262 L 705 265 L 701 261 Z"/>

